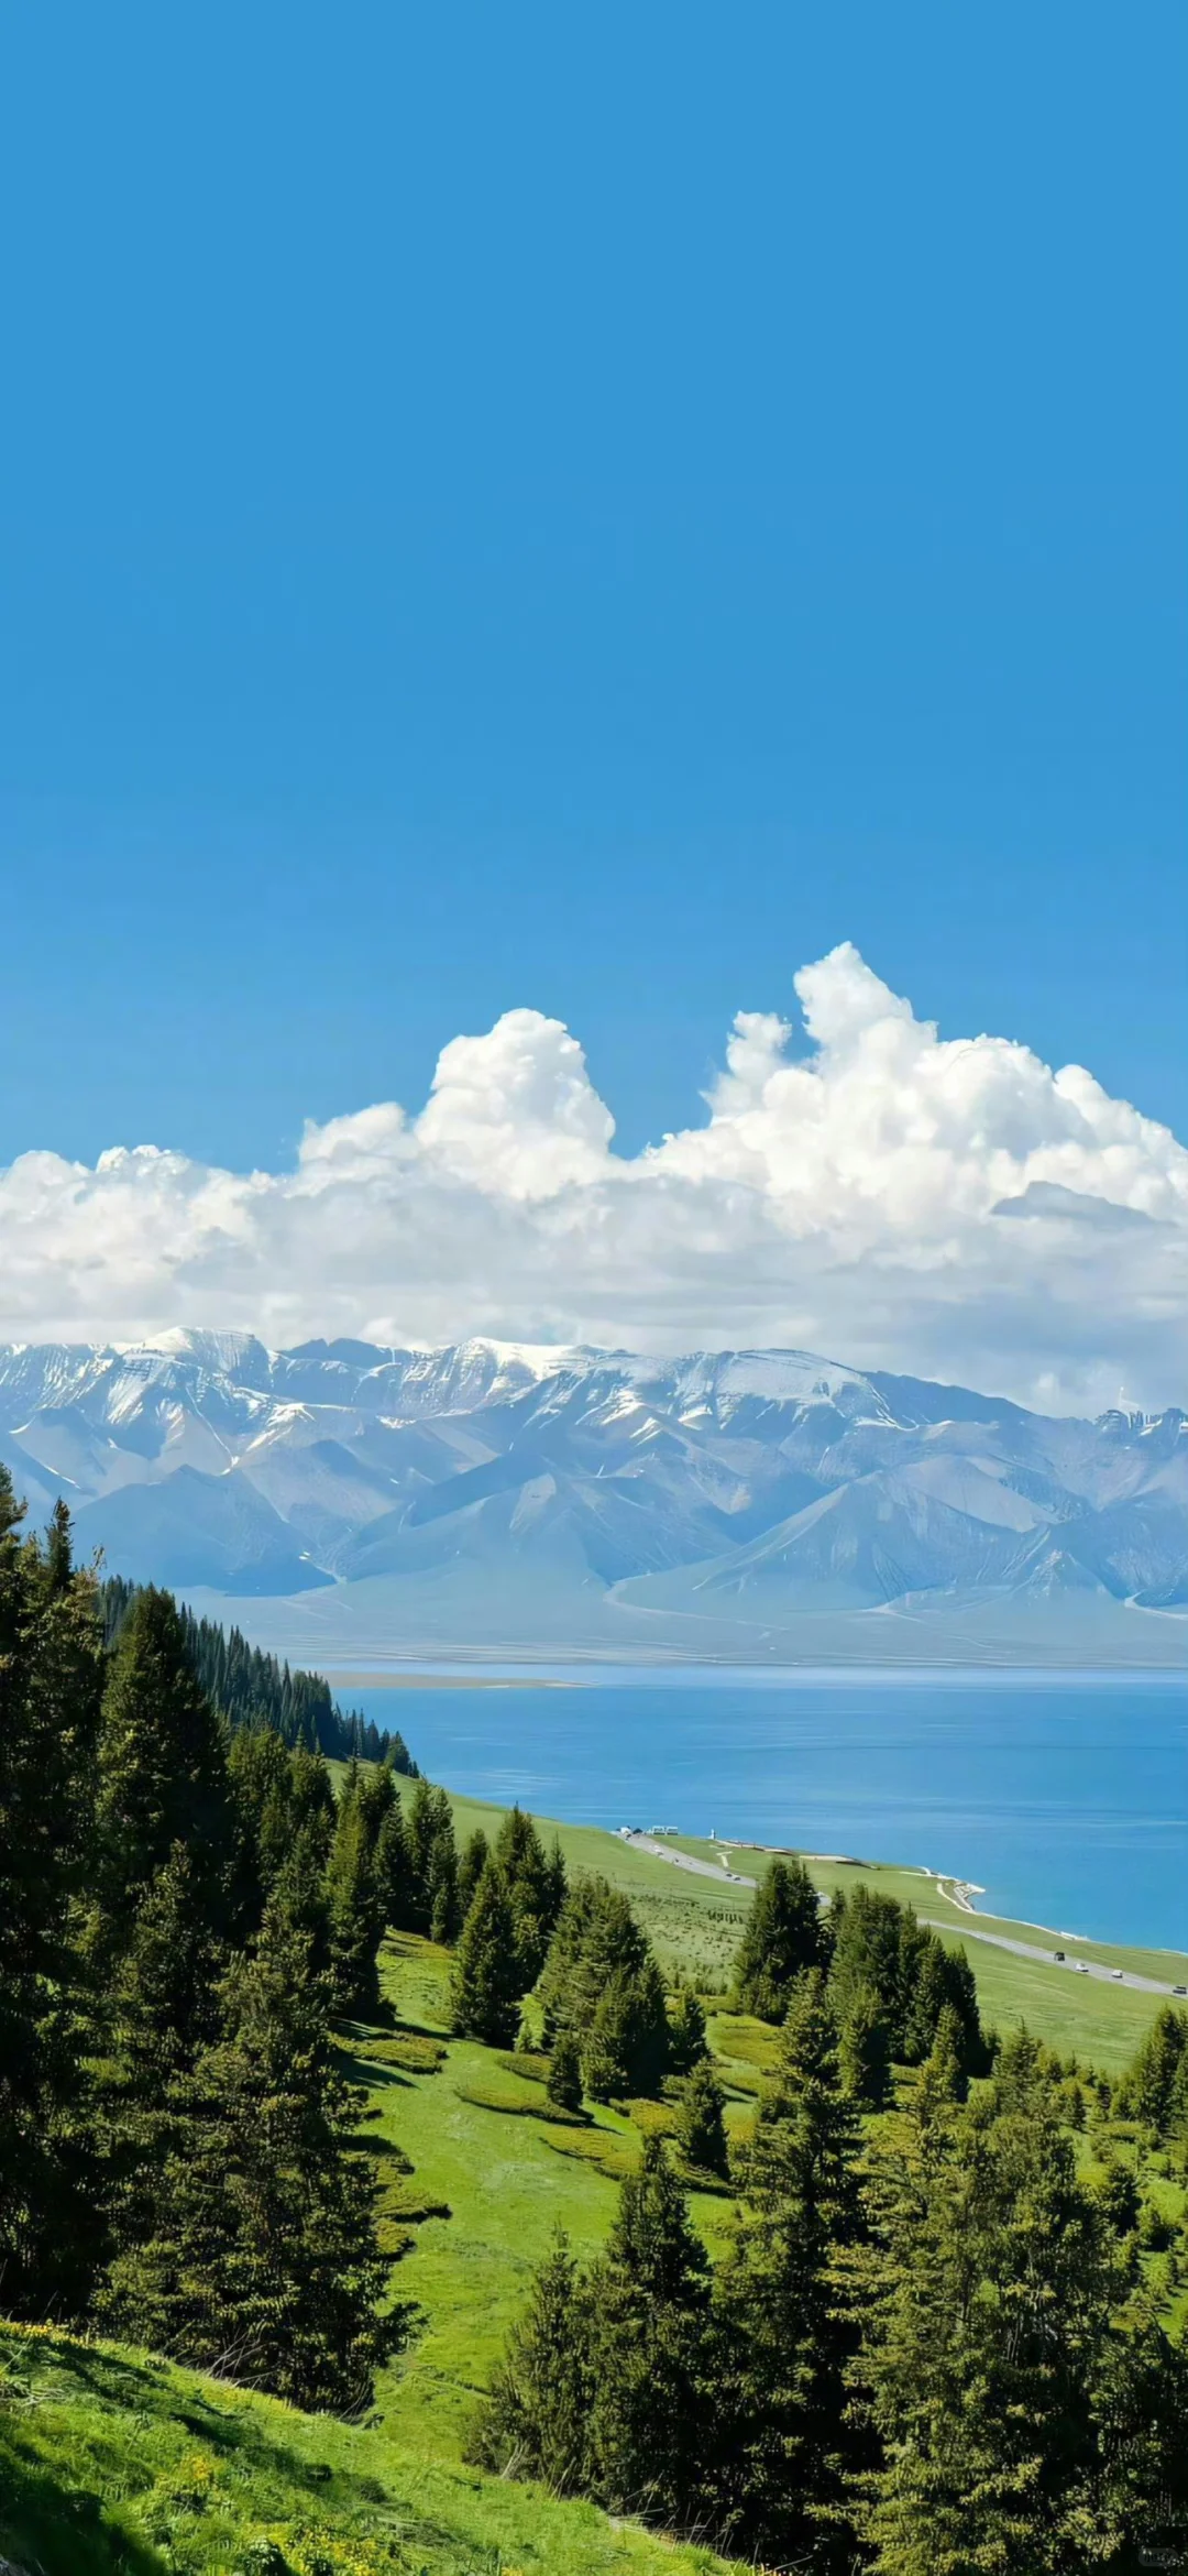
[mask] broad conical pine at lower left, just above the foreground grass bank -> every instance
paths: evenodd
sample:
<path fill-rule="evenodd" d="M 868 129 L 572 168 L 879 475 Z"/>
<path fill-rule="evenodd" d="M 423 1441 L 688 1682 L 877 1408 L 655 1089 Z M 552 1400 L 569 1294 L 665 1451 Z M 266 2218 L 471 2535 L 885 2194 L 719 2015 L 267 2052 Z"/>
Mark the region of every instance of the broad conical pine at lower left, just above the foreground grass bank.
<path fill-rule="evenodd" d="M 294 2406 L 356 2411 L 399 2326 L 376 2316 L 374 2182 L 350 2154 L 320 1978 L 273 1914 L 222 2012 L 170 2089 L 147 2228 L 111 2264 L 101 2321 Z"/>

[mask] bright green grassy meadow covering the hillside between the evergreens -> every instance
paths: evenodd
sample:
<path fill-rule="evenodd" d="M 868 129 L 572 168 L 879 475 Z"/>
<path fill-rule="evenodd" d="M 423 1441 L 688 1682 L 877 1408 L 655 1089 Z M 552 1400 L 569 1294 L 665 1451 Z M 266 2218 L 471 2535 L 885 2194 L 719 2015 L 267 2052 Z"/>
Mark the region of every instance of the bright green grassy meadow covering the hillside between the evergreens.
<path fill-rule="evenodd" d="M 459 1842 L 500 1808 L 454 1798 Z M 551 1826 L 544 1826 L 551 1834 Z M 600 1870 L 637 1906 L 667 1973 L 709 1999 L 709 2038 L 737 2136 L 773 2061 L 776 2032 L 724 2007 L 750 1888 L 675 1870 L 593 1826 L 557 1826 L 575 1870 Z M 711 1844 L 680 1844 L 711 1857 Z M 732 1852 L 760 1875 L 765 1855 Z M 871 1886 L 969 1935 L 938 1880 L 876 1862 L 809 1860 L 822 1891 Z M 1036 1940 L 1026 1924 L 979 1929 Z M 1064 1942 L 1072 1953 L 1072 1942 Z M 1173 1978 L 1152 1953 L 1085 1955 Z M 966 1940 L 982 2014 L 1026 2020 L 1062 2053 L 1126 2063 L 1157 1996 L 1075 1978 Z M 544 2061 L 448 2035 L 451 1955 L 415 1935 L 381 1947 L 381 2020 L 348 2025 L 348 2071 L 366 2092 L 358 2146 L 376 2164 L 392 2298 L 410 2342 L 379 2375 L 366 2424 L 304 2416 L 142 2352 L 0 2326 L 0 2558 L 39 2576 L 711 2576 L 724 2563 L 595 2506 L 490 2478 L 464 2460 L 466 2424 L 528 2277 L 564 2226 L 577 2254 L 603 2244 L 616 2182 L 667 2102 L 554 2112 Z M 1098 2146 L 1085 2138 L 1085 2156 Z M 1131 2154 L 1126 2138 L 1108 2154 Z M 696 2177 L 693 2177 L 696 2179 Z M 1167 2177 L 1175 2223 L 1183 2192 Z M 729 2190 L 693 2187 L 706 2246 L 729 2231 Z M 268 2555 L 268 2553 L 276 2555 Z"/>

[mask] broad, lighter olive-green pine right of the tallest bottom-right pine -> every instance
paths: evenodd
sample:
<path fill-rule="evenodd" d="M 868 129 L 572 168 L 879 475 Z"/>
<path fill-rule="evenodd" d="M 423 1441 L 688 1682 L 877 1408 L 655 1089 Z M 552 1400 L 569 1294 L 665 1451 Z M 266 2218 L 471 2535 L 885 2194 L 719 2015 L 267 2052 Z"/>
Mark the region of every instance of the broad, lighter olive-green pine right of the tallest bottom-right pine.
<path fill-rule="evenodd" d="M 884 2468 L 861 2532 L 886 2576 L 1136 2566 L 1106 2548 L 1126 2269 L 1039 2050 L 1008 2058 L 977 2117 L 933 2117 L 915 2172 L 881 2195 L 861 2375 Z"/>

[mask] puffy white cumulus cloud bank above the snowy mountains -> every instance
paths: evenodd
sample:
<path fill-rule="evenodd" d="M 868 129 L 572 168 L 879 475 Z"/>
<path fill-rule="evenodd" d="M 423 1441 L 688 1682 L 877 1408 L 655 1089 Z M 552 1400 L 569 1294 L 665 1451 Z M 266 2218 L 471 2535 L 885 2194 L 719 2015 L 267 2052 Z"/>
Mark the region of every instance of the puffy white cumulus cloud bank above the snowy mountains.
<path fill-rule="evenodd" d="M 740 1012 L 701 1126 L 637 1157 L 536 1010 L 454 1038 L 417 1115 L 291 1172 L 160 1146 L 0 1172 L 0 1332 L 791 1342 L 1049 1406 L 1188 1396 L 1188 1151 L 1082 1066 L 941 1041 L 845 943 Z"/>

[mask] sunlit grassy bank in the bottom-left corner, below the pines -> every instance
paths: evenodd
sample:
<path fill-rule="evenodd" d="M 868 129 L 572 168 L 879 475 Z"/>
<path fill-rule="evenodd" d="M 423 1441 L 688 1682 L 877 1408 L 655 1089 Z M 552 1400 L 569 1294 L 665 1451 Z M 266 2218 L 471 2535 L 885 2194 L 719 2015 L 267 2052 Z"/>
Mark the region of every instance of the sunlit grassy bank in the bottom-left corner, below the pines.
<path fill-rule="evenodd" d="M 588 2504 L 412 2458 L 389 2427 L 0 2326 L 0 2555 L 39 2576 L 711 2576 Z"/>

